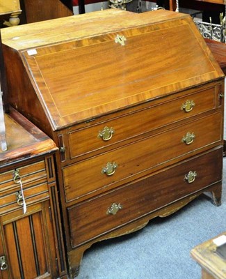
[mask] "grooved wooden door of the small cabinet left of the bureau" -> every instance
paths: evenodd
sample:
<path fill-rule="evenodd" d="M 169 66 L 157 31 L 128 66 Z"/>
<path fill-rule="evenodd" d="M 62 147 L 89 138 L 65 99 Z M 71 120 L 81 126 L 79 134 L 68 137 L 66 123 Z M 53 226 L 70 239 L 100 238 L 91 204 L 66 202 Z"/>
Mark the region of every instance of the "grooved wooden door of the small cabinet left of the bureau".
<path fill-rule="evenodd" d="M 0 252 L 8 264 L 6 270 L 0 271 L 2 278 L 55 278 L 56 250 L 49 201 L 29 206 L 24 216 L 19 210 L 1 216 L 0 221 Z"/>

